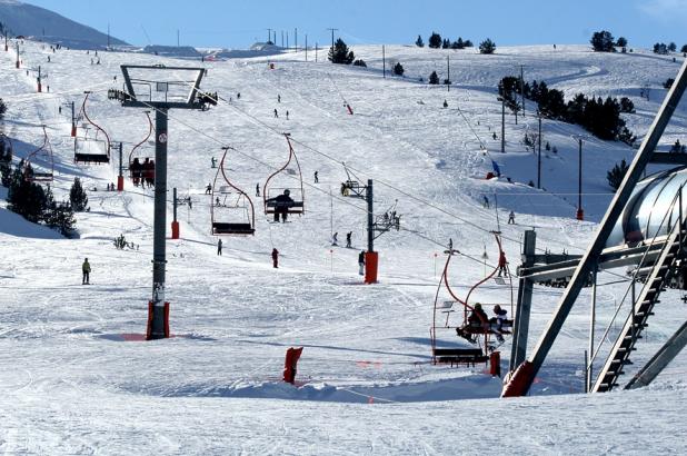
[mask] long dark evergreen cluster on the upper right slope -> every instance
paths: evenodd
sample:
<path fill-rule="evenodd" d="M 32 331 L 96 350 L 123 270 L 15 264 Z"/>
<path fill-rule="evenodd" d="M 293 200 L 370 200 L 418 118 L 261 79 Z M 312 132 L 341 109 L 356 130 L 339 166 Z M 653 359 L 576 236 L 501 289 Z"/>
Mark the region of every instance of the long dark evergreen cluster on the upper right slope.
<path fill-rule="evenodd" d="M 507 103 L 517 105 L 517 95 L 525 91 L 525 98 L 537 102 L 541 116 L 579 125 L 594 136 L 605 140 L 618 140 L 633 145 L 637 139 L 625 126 L 621 112 L 634 112 L 629 98 L 587 97 L 577 93 L 566 103 L 562 90 L 549 89 L 546 82 L 521 83 L 520 77 L 506 77 L 499 82 L 499 96 Z"/>

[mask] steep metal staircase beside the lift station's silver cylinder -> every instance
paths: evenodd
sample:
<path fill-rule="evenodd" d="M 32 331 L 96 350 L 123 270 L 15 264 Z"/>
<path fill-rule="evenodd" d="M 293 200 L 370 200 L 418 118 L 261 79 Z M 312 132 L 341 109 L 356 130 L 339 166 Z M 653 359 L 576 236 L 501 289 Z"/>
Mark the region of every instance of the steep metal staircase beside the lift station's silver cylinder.
<path fill-rule="evenodd" d="M 591 389 L 595 393 L 609 391 L 618 386 L 617 380 L 624 374 L 623 368 L 633 364 L 629 359 L 630 354 L 636 350 L 635 345 L 641 338 L 641 333 L 646 328 L 648 318 L 654 315 L 654 306 L 658 303 L 658 297 L 666 289 L 676 269 L 676 261 L 681 257 L 685 220 L 676 222 L 666 239 L 660 255 L 656 259 L 646 276 L 646 281 L 637 299 L 633 303 L 633 309 L 627 317 L 623 330 L 620 331 L 608 358 L 597 377 L 596 384 Z M 681 228 L 681 229 L 680 229 Z"/>

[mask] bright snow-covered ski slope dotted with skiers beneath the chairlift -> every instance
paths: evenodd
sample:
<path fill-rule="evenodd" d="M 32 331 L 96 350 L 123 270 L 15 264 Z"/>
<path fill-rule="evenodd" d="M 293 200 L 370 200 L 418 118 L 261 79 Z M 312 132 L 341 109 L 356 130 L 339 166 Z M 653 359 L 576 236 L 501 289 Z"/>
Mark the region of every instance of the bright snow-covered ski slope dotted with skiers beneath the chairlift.
<path fill-rule="evenodd" d="M 681 452 L 685 354 L 650 388 L 571 395 L 583 389 L 587 291 L 541 369 L 534 397 L 497 399 L 500 379 L 486 375 L 482 366 L 431 365 L 429 327 L 449 238 L 462 254 L 450 271 L 462 296 L 494 267 L 498 250 L 492 230 L 502 231 L 511 269 L 518 264 L 522 231 L 531 227 L 542 250 L 580 252 L 611 196 L 606 171 L 634 153 L 625 145 L 546 120 L 545 140 L 558 152 L 544 158 L 546 190 L 529 187 L 536 178 L 536 157 L 520 141 L 537 121 L 531 106 L 518 125 L 508 116 L 507 152 L 500 153 L 500 138 L 492 137 L 495 131 L 500 135 L 498 80 L 524 66 L 526 79 L 545 80 L 568 96 L 584 91 L 630 97 L 637 113 L 626 119 L 643 136 L 665 93 L 660 85 L 675 77 L 683 59 L 673 62 L 641 51 L 600 54 L 581 46 L 499 48 L 494 56 L 450 51 L 454 86 L 448 92 L 418 81 L 432 70 L 444 79 L 447 51 L 387 47 L 387 58 L 401 62 L 407 77 L 386 79 L 378 47 L 355 51 L 367 69 L 332 66 L 322 62 L 321 54 L 317 63 L 311 53 L 305 61 L 303 52 L 270 57 L 273 66 L 268 58 L 202 63 L 208 70 L 202 87 L 218 91 L 225 101 L 207 112 L 170 112 L 168 185 L 193 204 L 179 211 L 181 239 L 168 241 L 167 299 L 176 337 L 153 343 L 135 341 L 145 330 L 151 288 L 152 190 L 127 181 L 122 194 L 103 191 L 116 181 L 117 163 L 74 165 L 69 112 L 63 108 L 60 113 L 59 108 L 70 101 L 78 107 L 83 91 L 92 91 L 89 116 L 113 140 L 125 142 L 126 159 L 146 137 L 148 121 L 142 110 L 107 99 L 108 88 L 121 87 L 120 65 L 189 63 L 100 52 L 101 63 L 94 65 L 92 53 L 52 53 L 28 41 L 21 49 L 24 67 L 16 70 L 13 52 L 0 53 L 2 97 L 9 106 L 4 127 L 19 141 L 18 156 L 39 143 L 39 126 L 46 125 L 56 151 L 57 198 L 81 177 L 90 189 L 91 207 L 78 216 L 76 240 L 47 239 L 42 231 L 28 229 L 18 232 L 20 222 L 0 208 L 1 449 Z M 30 69 L 38 65 L 48 73 L 49 93 L 36 93 Z M 647 86 L 650 101 L 639 97 Z M 686 106 L 678 107 L 661 147 L 684 138 Z M 260 198 L 255 198 L 256 236 L 226 238 L 223 255 L 217 256 L 205 195 L 216 176 L 211 158 L 220 158 L 221 148 L 231 146 L 227 175 L 252 196 L 256 185 L 265 184 L 286 161 L 281 133 L 287 131 L 303 170 L 306 214 L 289 224 L 270 224 L 259 210 Z M 588 217 L 581 222 L 574 219 L 579 137 L 585 138 Z M 492 160 L 504 176 L 486 180 Z M 374 286 L 361 285 L 357 275 L 357 256 L 366 247 L 366 208 L 362 201 L 340 196 L 347 177 L 342 161 L 360 180 L 374 179 L 378 214 L 396 204 L 401 215 L 402 229 L 376 240 L 380 282 Z M 313 182 L 315 171 L 319 184 Z M 298 184 L 292 174 L 280 176 L 280 182 Z M 482 207 L 485 197 L 489 208 Z M 510 210 L 516 225 L 504 224 Z M 339 240 L 352 232 L 354 248 L 332 247 L 333 231 Z M 112 239 L 120 234 L 139 248 L 116 250 Z M 272 248 L 281 254 L 279 269 L 271 267 Z M 79 281 L 84 257 L 93 268 L 89 287 Z M 624 288 L 615 284 L 617 276 L 600 276 L 607 284 L 597 296 L 603 325 Z M 471 299 L 500 303 L 510 310 L 512 291 L 489 281 Z M 559 289 L 536 288 L 531 345 L 559 296 Z M 634 358 L 637 365 L 685 320 L 679 293 L 669 290 L 661 301 Z M 461 344 L 455 334 L 441 338 Z M 297 376 L 303 385 L 298 388 L 280 381 L 290 346 L 305 347 Z M 509 351 L 507 341 L 504 364 Z"/>

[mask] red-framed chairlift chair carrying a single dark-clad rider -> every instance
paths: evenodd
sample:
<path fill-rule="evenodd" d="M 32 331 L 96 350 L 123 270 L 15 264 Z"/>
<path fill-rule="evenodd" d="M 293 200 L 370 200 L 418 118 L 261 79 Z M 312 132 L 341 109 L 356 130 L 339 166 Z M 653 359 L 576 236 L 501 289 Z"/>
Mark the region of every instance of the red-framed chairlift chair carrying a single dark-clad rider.
<path fill-rule="evenodd" d="M 288 133 L 283 135 L 288 145 L 289 145 L 289 159 L 287 162 L 279 168 L 277 171 L 272 172 L 267 180 L 265 181 L 265 186 L 262 187 L 262 204 L 265 206 L 265 214 L 298 214 L 301 215 L 305 211 L 303 205 L 303 178 L 302 172 L 300 170 L 300 162 L 298 161 L 298 157 L 296 156 L 296 151 L 291 145 L 290 136 Z M 295 161 L 296 167 L 289 168 L 289 163 L 291 160 Z M 295 179 L 298 179 L 298 184 L 295 187 L 273 187 L 271 185 L 271 180 L 275 176 L 286 172 L 295 176 Z M 283 201 L 280 198 L 281 195 L 286 195 L 290 198 L 289 200 Z"/>

